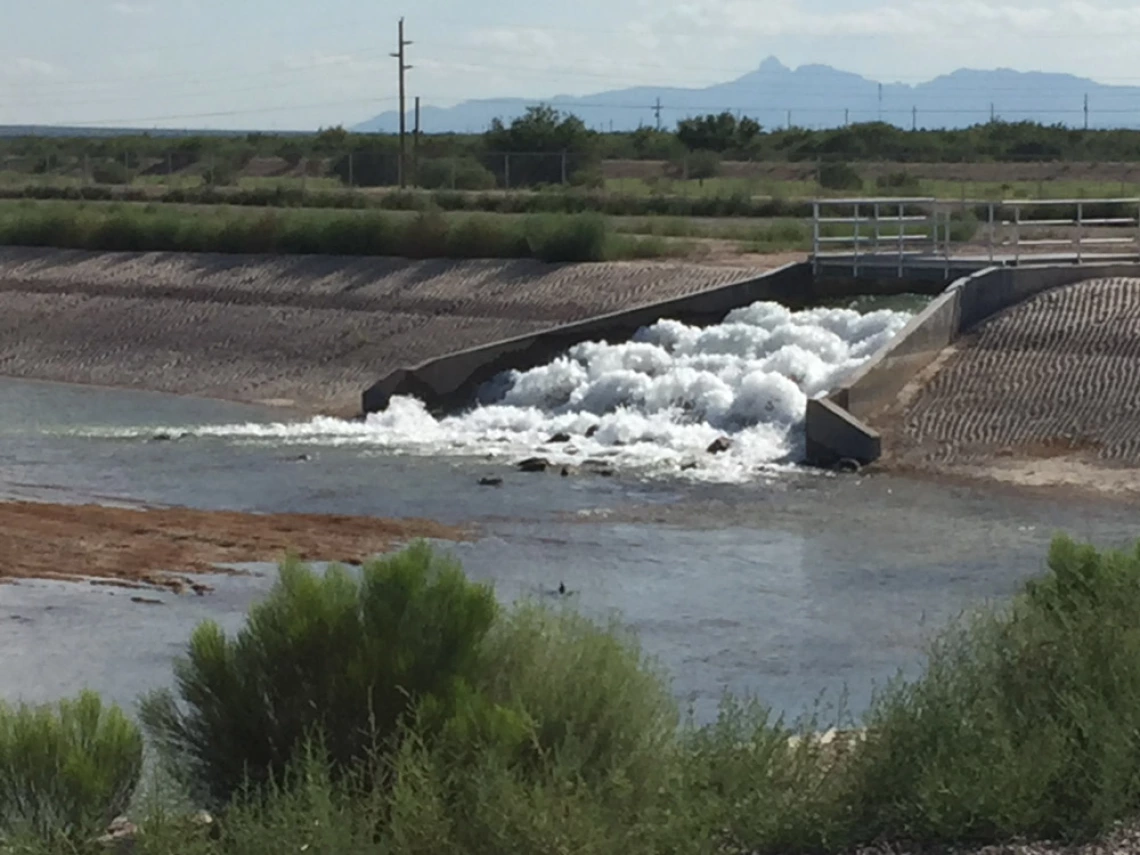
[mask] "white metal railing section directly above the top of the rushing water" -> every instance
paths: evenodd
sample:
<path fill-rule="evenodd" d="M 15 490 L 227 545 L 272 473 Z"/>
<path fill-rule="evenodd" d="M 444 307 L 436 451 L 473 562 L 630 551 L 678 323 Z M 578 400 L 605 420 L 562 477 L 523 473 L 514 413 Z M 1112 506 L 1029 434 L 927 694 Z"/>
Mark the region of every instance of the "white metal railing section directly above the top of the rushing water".
<path fill-rule="evenodd" d="M 910 256 L 944 259 L 948 269 L 950 211 L 936 198 L 829 198 L 812 203 L 815 272 L 829 258 L 849 260 L 853 275 L 893 259 L 903 276 Z"/>

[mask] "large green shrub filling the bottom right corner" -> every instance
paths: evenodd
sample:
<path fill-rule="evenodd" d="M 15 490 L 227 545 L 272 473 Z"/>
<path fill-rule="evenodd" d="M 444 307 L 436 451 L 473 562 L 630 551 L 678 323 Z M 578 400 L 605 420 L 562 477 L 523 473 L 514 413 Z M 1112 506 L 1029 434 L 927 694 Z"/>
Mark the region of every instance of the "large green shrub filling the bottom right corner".
<path fill-rule="evenodd" d="M 1008 609 L 953 627 L 874 702 L 852 764 L 861 840 L 1077 838 L 1140 808 L 1140 549 L 1053 542 Z"/>

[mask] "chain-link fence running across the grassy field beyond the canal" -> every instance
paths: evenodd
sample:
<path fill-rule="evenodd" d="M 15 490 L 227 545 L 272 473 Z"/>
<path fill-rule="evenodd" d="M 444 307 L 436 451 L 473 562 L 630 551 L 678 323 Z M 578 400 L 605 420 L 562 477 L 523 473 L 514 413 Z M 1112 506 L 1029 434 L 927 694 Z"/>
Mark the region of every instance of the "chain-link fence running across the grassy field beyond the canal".
<path fill-rule="evenodd" d="M 287 148 L 287 147 L 284 147 Z M 0 188 L 198 186 L 319 190 L 507 192 L 583 188 L 629 195 L 772 196 L 926 195 L 947 199 L 1092 198 L 1140 195 L 1140 163 L 1044 162 L 722 162 L 708 153 L 671 161 L 601 161 L 570 152 L 466 153 L 388 150 L 234 154 L 201 146 L 116 148 L 92 142 L 42 155 L 0 154 Z"/>

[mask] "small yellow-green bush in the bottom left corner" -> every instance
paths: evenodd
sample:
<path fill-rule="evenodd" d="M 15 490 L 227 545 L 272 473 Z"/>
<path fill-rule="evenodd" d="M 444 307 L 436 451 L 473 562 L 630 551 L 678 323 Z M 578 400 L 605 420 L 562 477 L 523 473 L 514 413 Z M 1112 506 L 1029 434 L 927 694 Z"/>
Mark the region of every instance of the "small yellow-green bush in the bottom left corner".
<path fill-rule="evenodd" d="M 92 692 L 0 703 L 0 842 L 89 839 L 127 808 L 141 768 L 138 727 Z"/>

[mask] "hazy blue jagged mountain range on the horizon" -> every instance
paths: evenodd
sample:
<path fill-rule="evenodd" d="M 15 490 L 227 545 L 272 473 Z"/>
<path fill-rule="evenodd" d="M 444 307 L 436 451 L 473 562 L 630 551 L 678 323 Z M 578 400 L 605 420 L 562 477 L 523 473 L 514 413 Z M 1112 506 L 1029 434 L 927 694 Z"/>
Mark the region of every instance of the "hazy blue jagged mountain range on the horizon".
<path fill-rule="evenodd" d="M 880 119 L 903 128 L 964 128 L 991 117 L 1082 128 L 1086 115 L 1090 128 L 1140 127 L 1140 87 L 1010 68 L 962 68 L 915 85 L 879 83 L 828 65 L 789 68 L 775 57 L 738 80 L 706 89 L 636 87 L 583 97 L 424 106 L 421 125 L 425 133 L 483 131 L 492 119 L 510 121 L 528 106 L 549 104 L 596 130 L 633 130 L 657 124 L 658 103 L 661 127 L 667 129 L 686 116 L 725 109 L 751 116 L 765 128 L 834 128 Z M 398 129 L 399 113 L 390 111 L 352 130 L 386 133 Z"/>

